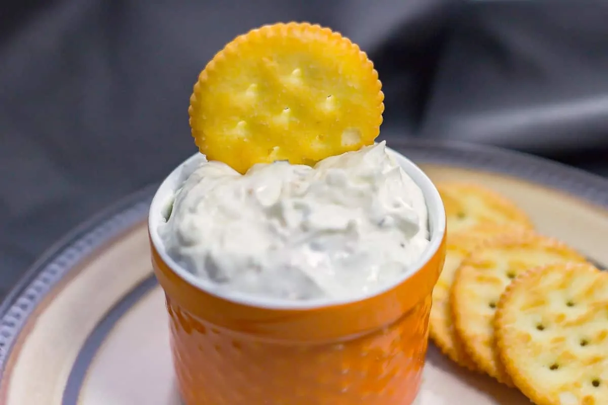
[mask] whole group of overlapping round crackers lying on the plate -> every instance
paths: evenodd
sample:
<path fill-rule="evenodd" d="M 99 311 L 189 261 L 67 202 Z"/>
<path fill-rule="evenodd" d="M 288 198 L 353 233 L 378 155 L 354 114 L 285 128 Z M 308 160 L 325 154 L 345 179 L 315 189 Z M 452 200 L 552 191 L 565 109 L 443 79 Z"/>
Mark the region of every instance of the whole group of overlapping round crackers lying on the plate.
<path fill-rule="evenodd" d="M 438 189 L 448 237 L 430 338 L 537 405 L 608 404 L 608 274 L 496 192 Z"/>

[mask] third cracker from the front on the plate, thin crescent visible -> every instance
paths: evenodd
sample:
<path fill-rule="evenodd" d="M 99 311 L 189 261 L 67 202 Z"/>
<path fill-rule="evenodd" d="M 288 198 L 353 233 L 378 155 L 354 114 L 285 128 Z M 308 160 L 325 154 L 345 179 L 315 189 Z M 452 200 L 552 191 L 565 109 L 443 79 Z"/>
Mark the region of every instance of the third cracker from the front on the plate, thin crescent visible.
<path fill-rule="evenodd" d="M 485 224 L 447 242 L 445 264 L 433 289 L 433 305 L 429 316 L 429 336 L 444 355 L 471 371 L 478 371 L 477 366 L 466 353 L 454 330 L 452 309 L 449 303 L 452 282 L 454 282 L 456 270 L 460 267 L 462 260 L 474 251 L 475 247 L 494 237 L 516 232 L 523 232 L 523 228 L 517 225 Z"/>

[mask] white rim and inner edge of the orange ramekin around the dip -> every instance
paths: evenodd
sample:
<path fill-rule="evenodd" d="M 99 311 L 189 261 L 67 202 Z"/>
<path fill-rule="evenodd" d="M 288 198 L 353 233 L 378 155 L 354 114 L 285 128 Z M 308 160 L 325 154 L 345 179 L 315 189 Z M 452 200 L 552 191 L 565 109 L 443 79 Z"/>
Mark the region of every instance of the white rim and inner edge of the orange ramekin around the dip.
<path fill-rule="evenodd" d="M 396 279 L 392 284 L 387 287 L 374 290 L 368 294 L 362 294 L 361 296 L 357 296 L 356 298 L 348 298 L 348 299 L 307 299 L 301 301 L 292 301 L 287 299 L 277 299 L 277 298 L 267 298 L 263 296 L 257 296 L 255 294 L 250 293 L 241 293 L 239 291 L 218 291 L 215 288 L 215 284 L 213 282 L 206 281 L 204 279 L 200 279 L 196 277 L 194 274 L 190 273 L 185 268 L 175 262 L 175 260 L 171 259 L 171 257 L 165 251 L 164 243 L 162 243 L 162 239 L 158 233 L 158 226 L 164 220 L 164 211 L 168 204 L 173 201 L 174 192 L 179 187 L 178 181 L 181 178 L 181 171 L 185 165 L 188 163 L 192 163 L 194 160 L 201 158 L 201 154 L 196 153 L 192 155 L 190 158 L 185 160 L 181 165 L 179 165 L 176 169 L 171 172 L 167 176 L 167 178 L 162 182 L 161 186 L 159 186 L 156 194 L 154 194 L 154 198 L 152 199 L 152 203 L 150 205 L 150 214 L 148 215 L 148 228 L 150 230 L 150 239 L 154 244 L 159 256 L 161 259 L 167 264 L 167 266 L 179 277 L 184 279 L 184 281 L 188 282 L 188 284 L 193 285 L 199 290 L 205 291 L 206 293 L 212 294 L 221 299 L 225 299 L 227 301 L 232 301 L 237 304 L 243 304 L 250 307 L 260 307 L 260 308 L 268 308 L 274 310 L 306 310 L 320 307 L 330 307 L 334 305 L 348 304 L 351 302 L 364 301 L 365 299 L 369 299 L 373 296 L 378 296 L 385 291 L 389 291 L 394 288 L 396 285 L 401 284 L 402 282 L 409 279 L 409 277 L 413 276 L 413 274 L 418 273 L 424 265 L 429 262 L 430 259 L 435 255 L 437 250 L 440 248 L 441 241 L 443 240 L 443 236 L 446 232 L 446 216 L 444 211 L 443 202 L 441 201 L 441 197 L 435 185 L 431 182 L 429 177 L 420 169 L 415 163 L 410 161 L 408 158 L 399 154 L 393 149 L 386 148 L 389 154 L 395 157 L 396 161 L 399 163 L 402 169 L 409 175 L 412 180 L 420 187 L 423 192 L 424 199 L 426 201 L 427 209 L 429 211 L 429 231 L 430 231 L 430 243 L 427 246 L 426 250 L 424 250 L 423 254 L 418 257 L 415 264 L 412 265 L 415 270 L 407 271 L 404 273 L 402 277 Z"/>

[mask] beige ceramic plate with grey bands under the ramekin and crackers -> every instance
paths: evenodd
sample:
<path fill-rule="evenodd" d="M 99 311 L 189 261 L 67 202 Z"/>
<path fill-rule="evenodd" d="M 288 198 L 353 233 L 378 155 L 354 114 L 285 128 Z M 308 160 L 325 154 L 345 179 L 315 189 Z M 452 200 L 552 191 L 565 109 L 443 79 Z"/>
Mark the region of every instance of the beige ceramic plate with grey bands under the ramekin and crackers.
<path fill-rule="evenodd" d="M 511 197 L 542 233 L 608 264 L 608 180 L 527 155 L 455 143 L 389 143 L 434 180 Z M 156 186 L 61 240 L 0 306 L 0 403 L 177 405 L 164 296 L 148 257 Z M 528 401 L 472 375 L 432 345 L 419 405 Z"/>

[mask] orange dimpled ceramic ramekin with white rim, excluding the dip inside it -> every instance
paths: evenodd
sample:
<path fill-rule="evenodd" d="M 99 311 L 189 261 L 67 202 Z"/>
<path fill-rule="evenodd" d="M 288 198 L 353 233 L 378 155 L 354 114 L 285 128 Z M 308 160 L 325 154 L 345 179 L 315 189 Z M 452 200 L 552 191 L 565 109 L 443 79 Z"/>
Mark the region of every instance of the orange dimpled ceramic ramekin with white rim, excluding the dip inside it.
<path fill-rule="evenodd" d="M 150 210 L 152 263 L 165 290 L 185 404 L 412 403 L 427 349 L 431 293 L 445 257 L 446 219 L 424 172 L 389 153 L 424 193 L 431 240 L 415 271 L 353 301 L 285 302 L 214 291 L 168 257 L 157 233 L 184 165 L 199 157 L 162 183 Z"/>

